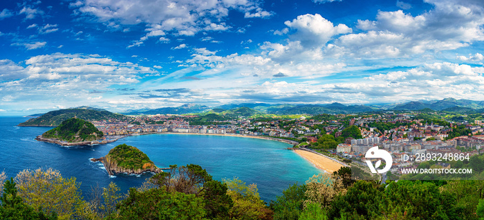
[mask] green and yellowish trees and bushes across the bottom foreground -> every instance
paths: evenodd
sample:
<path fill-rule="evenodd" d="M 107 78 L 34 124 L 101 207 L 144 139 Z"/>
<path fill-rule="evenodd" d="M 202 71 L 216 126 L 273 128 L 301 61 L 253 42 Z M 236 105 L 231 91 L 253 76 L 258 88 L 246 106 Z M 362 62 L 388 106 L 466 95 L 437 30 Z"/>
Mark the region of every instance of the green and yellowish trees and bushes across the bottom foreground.
<path fill-rule="evenodd" d="M 171 166 L 127 194 L 111 183 L 84 199 L 52 169 L 0 174 L 0 219 L 483 219 L 484 181 L 353 181 L 350 168 L 288 186 L 262 201 L 255 184 Z"/>

